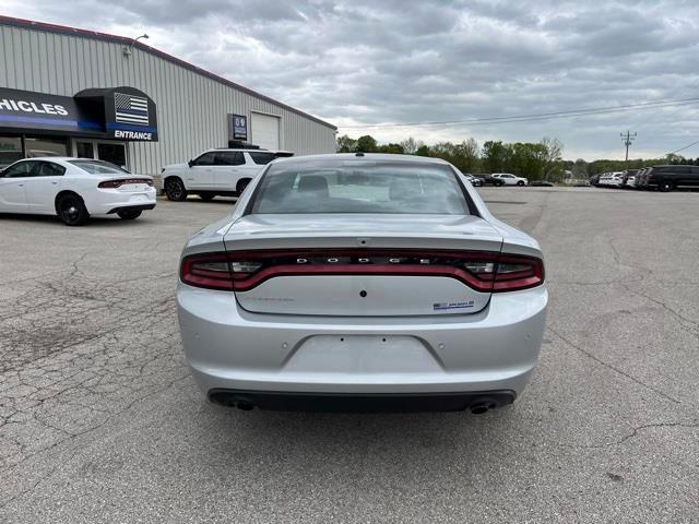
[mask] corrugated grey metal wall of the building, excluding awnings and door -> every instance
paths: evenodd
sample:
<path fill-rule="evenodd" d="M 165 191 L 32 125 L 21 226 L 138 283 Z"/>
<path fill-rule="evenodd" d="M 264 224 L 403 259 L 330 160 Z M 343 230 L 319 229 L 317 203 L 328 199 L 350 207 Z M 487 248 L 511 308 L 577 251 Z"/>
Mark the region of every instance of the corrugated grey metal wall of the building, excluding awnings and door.
<path fill-rule="evenodd" d="M 252 111 L 280 116 L 281 146 L 297 155 L 335 151 L 335 132 L 327 126 L 142 49 L 127 58 L 122 47 L 0 24 L 0 86 L 66 96 L 119 85 L 145 92 L 157 105 L 159 142 L 129 144 L 131 169 L 142 174 L 226 146 L 228 114 L 247 115 L 248 122 Z"/>

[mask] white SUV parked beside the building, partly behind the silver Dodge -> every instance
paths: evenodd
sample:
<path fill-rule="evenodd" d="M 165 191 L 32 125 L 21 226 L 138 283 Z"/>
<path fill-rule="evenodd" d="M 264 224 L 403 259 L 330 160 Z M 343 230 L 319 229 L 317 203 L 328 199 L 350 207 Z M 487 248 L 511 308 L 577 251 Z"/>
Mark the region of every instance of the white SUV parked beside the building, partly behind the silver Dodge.
<path fill-rule="evenodd" d="M 182 201 L 189 193 L 203 200 L 216 195 L 238 196 L 276 157 L 275 152 L 265 150 L 209 150 L 187 164 L 163 168 L 165 194 L 174 201 Z"/>

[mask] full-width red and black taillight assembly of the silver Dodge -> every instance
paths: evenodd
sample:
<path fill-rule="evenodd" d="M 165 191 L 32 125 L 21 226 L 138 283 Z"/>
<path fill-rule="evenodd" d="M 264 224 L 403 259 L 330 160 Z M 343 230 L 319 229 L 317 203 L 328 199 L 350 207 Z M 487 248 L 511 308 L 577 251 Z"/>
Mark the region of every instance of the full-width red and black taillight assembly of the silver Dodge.
<path fill-rule="evenodd" d="M 481 293 L 513 291 L 544 282 L 541 259 L 490 251 L 263 250 L 191 254 L 182 260 L 182 283 L 209 289 L 248 291 L 279 276 L 443 276 Z"/>

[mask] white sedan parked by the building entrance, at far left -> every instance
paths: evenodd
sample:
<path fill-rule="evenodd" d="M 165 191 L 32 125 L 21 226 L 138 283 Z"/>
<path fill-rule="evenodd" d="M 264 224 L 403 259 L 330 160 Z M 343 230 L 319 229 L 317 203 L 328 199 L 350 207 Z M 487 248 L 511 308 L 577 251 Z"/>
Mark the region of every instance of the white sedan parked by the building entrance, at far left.
<path fill-rule="evenodd" d="M 155 207 L 153 177 L 92 158 L 38 157 L 0 171 L 0 213 L 58 215 L 82 226 L 92 215 L 134 219 Z"/>

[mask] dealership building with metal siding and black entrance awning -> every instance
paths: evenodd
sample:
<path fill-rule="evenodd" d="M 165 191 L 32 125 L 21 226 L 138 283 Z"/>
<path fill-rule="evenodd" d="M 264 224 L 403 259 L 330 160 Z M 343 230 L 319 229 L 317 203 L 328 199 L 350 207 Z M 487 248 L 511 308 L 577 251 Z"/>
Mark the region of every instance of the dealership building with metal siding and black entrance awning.
<path fill-rule="evenodd" d="M 0 16 L 0 168 L 81 156 L 157 175 L 251 143 L 335 151 L 336 128 L 141 40 Z"/>

